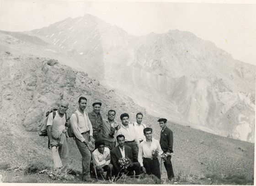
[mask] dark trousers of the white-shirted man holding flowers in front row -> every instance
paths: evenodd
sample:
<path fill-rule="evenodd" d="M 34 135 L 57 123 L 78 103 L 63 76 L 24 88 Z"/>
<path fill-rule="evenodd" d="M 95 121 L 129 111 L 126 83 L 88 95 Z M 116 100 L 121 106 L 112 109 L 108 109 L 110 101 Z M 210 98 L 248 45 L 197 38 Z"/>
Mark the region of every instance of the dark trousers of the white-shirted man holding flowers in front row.
<path fill-rule="evenodd" d="M 158 159 L 143 159 L 143 166 L 146 169 L 146 172 L 148 175 L 155 175 L 159 179 L 161 179 L 161 173 L 160 173 L 160 163 Z"/>

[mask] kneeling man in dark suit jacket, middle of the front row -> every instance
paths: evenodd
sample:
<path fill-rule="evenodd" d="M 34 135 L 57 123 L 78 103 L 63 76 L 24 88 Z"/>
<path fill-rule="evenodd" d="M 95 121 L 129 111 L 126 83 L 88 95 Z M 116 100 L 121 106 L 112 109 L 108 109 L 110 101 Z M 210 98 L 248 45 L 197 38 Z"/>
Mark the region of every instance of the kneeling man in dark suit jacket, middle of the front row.
<path fill-rule="evenodd" d="M 132 153 L 132 148 L 124 145 L 124 135 L 123 134 L 119 134 L 117 136 L 117 143 L 118 146 L 113 148 L 110 151 L 110 155 L 111 155 L 111 162 L 114 166 L 114 171 L 119 175 L 124 174 L 128 174 L 128 175 L 134 175 L 135 171 L 135 175 L 139 175 L 140 173 L 140 165 L 139 162 L 133 162 L 133 153 Z M 125 168 L 121 162 L 119 162 L 119 160 L 121 160 L 122 158 L 126 158 L 128 159 L 128 166 L 127 168 Z M 121 160 L 122 161 L 122 160 Z M 137 178 L 138 176 L 136 176 Z"/>

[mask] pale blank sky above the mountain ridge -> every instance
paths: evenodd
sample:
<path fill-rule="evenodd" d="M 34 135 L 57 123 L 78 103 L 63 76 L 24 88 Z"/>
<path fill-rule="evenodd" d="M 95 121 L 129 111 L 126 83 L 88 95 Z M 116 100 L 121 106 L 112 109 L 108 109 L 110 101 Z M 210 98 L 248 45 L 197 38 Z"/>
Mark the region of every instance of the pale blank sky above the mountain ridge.
<path fill-rule="evenodd" d="M 0 30 L 29 31 L 91 14 L 135 36 L 173 29 L 192 32 L 233 58 L 256 65 L 256 2 L 172 1 L 0 0 Z"/>

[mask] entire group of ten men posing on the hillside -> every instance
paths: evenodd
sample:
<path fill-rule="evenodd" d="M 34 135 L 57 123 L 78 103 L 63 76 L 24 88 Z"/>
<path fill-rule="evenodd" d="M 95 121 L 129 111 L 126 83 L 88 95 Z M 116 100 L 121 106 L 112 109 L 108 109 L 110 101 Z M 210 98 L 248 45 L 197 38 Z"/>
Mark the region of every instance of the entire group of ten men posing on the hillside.
<path fill-rule="evenodd" d="M 78 106 L 71 115 L 69 123 L 75 143 L 82 155 L 82 181 L 93 181 L 90 175 L 91 158 L 95 162 L 96 174 L 103 175 L 102 173 L 106 171 L 106 179 L 123 174 L 138 178 L 142 172 L 153 174 L 160 179 L 158 160 L 160 155 L 164 158 L 168 179 L 174 178 L 171 165 L 173 135 L 172 131 L 166 127 L 165 118 L 158 120 L 162 128 L 159 142 L 152 138 L 152 128 L 142 123 L 141 112 L 137 113 L 136 122 L 133 124 L 129 123 L 127 113 L 121 114 L 122 124 L 119 125 L 115 120 L 114 110 L 109 110 L 107 119 L 102 119 L 101 102 L 93 103 L 93 111 L 89 113 L 85 112 L 87 106 L 85 97 L 79 98 Z M 66 122 L 68 107 L 68 102 L 62 101 L 59 110 L 55 114 L 50 113 L 47 122 L 54 168 L 64 171 L 67 169 L 68 157 L 68 122 Z M 94 145 L 96 149 L 91 157 L 90 147 Z M 128 161 L 128 165 L 121 165 L 122 158 Z"/>

